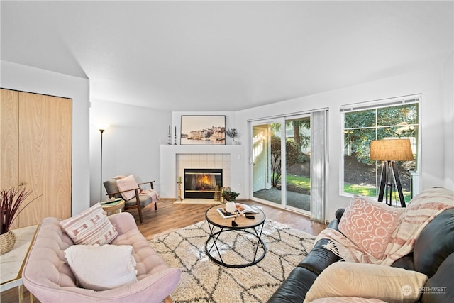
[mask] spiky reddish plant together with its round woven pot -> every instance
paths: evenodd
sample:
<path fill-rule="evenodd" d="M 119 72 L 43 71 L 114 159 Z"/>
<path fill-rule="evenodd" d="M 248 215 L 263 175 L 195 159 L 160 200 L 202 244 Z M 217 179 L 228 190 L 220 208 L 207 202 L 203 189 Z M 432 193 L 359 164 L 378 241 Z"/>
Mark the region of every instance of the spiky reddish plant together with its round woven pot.
<path fill-rule="evenodd" d="M 9 230 L 11 224 L 17 218 L 18 214 L 23 209 L 35 201 L 38 197 L 26 203 L 26 199 L 30 196 L 31 191 L 22 189 L 10 188 L 1 189 L 0 192 L 0 255 L 8 253 L 16 243 L 16 235 Z M 26 204 L 25 204 L 26 203 Z M 24 205 L 25 204 L 25 205 Z"/>

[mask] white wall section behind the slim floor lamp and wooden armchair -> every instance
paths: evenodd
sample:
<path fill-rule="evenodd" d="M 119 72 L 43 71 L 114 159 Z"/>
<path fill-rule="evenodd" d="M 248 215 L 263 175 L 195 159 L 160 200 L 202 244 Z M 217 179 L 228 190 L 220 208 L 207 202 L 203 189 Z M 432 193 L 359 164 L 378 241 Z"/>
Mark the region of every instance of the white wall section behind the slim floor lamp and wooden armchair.
<path fill-rule="evenodd" d="M 98 123 L 108 123 L 103 133 L 103 180 L 133 174 L 138 182 L 153 181 L 160 189 L 160 145 L 167 144 L 170 111 L 157 111 L 109 101 L 92 101 L 90 108 L 90 202 L 106 198 L 101 187 L 101 133 Z M 100 190 L 102 193 L 100 193 Z"/>

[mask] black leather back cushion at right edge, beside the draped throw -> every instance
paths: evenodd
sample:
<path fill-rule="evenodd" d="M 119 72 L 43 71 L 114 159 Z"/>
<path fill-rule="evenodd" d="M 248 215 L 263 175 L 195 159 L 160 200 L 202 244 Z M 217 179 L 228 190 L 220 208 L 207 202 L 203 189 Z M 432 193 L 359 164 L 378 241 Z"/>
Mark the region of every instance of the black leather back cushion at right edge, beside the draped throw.
<path fill-rule="evenodd" d="M 451 253 L 454 253 L 454 209 L 446 209 L 419 235 L 414 246 L 414 268 L 432 277 Z"/>

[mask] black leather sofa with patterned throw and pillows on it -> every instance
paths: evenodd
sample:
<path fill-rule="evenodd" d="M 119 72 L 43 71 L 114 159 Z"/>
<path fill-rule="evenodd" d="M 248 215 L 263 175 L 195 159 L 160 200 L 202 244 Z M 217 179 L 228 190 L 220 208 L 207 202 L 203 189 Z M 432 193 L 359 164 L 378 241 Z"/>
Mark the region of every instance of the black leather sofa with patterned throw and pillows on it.
<path fill-rule="evenodd" d="M 336 219 L 327 228 L 338 230 L 343 211 L 336 211 Z M 303 302 L 320 273 L 340 258 L 323 248 L 327 239 L 319 240 L 301 260 L 287 279 L 268 300 L 270 303 Z M 399 260 L 394 267 L 416 270 L 429 277 L 421 290 L 421 303 L 454 302 L 454 209 L 438 214 L 421 232 L 414 251 Z"/>

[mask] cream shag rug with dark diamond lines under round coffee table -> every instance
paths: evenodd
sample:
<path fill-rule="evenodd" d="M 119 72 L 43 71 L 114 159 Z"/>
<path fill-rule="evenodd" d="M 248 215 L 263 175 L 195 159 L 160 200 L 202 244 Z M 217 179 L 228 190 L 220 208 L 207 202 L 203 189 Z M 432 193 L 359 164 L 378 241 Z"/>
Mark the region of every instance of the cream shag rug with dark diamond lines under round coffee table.
<path fill-rule="evenodd" d="M 218 246 L 228 255 L 231 248 L 250 244 L 248 233 L 221 234 Z M 150 245 L 170 267 L 181 268 L 182 277 L 171 294 L 172 302 L 267 302 L 295 266 L 309 253 L 314 236 L 278 223 L 265 221 L 262 241 L 265 258 L 247 268 L 226 268 L 205 252 L 209 237 L 206 221 L 154 238 Z M 247 252 L 248 248 L 239 248 Z M 260 252 L 259 252 L 260 253 Z M 249 258 L 250 253 L 234 258 Z"/>

